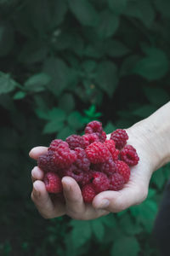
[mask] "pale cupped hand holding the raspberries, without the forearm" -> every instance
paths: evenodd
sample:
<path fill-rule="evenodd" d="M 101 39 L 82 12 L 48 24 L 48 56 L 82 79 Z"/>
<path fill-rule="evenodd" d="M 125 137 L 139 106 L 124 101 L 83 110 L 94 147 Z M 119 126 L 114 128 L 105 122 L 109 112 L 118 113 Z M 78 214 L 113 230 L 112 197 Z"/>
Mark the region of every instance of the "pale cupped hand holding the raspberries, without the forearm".
<path fill-rule="evenodd" d="M 42 217 L 55 218 L 67 214 L 76 219 L 93 219 L 109 212 L 121 212 L 144 201 L 148 195 L 150 177 L 154 171 L 149 141 L 140 134 L 138 128 L 133 126 L 127 129 L 127 134 L 129 137 L 127 143 L 137 149 L 139 164 L 131 168 L 130 179 L 122 190 L 101 192 L 94 197 L 92 204 L 83 202 L 81 189 L 71 177 L 62 178 L 65 201 L 50 196 L 42 181 L 43 172 L 35 166 L 31 171 L 33 183 L 31 199 Z M 32 148 L 30 156 L 37 160 L 38 156 L 46 153 L 47 150 L 48 148 L 45 147 Z"/>

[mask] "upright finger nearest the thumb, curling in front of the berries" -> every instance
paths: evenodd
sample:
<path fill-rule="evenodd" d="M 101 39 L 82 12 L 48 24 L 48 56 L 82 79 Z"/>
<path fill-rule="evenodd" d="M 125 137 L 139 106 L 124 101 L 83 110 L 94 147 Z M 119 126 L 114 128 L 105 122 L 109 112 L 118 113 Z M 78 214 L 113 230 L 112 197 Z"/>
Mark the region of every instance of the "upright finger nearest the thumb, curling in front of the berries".
<path fill-rule="evenodd" d="M 74 218 L 79 218 L 85 212 L 81 189 L 71 177 L 63 177 L 62 184 L 68 214 Z"/>

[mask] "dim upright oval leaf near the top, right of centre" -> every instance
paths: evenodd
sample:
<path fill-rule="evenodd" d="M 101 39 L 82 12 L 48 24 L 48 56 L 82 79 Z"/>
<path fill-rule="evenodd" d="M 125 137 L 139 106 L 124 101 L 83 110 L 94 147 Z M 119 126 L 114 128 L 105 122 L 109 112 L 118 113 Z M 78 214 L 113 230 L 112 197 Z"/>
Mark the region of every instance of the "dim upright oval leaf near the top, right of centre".
<path fill-rule="evenodd" d="M 110 38 L 119 26 L 119 17 L 107 9 L 100 13 L 99 25 L 95 28 L 100 38 Z"/>

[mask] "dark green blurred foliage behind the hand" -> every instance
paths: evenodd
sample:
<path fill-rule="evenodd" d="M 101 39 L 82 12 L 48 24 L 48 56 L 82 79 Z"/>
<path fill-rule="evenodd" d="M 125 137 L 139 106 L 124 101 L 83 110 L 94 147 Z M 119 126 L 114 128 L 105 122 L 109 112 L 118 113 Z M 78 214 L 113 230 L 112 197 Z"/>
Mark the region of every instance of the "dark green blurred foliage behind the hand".
<path fill-rule="evenodd" d="M 152 227 L 170 166 L 139 206 L 92 221 L 43 219 L 28 153 L 144 119 L 170 98 L 168 0 L 0 0 L 0 255 L 159 255 Z"/>

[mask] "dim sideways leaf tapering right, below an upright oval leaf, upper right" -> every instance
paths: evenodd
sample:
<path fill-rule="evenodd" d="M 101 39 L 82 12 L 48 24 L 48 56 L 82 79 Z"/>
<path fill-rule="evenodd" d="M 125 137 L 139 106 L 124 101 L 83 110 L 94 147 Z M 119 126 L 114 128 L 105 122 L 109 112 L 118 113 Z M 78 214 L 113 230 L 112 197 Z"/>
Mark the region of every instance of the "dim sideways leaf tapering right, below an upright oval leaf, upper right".
<path fill-rule="evenodd" d="M 118 40 L 107 40 L 105 43 L 105 53 L 111 57 L 122 57 L 127 55 L 130 50 L 125 44 Z"/>

